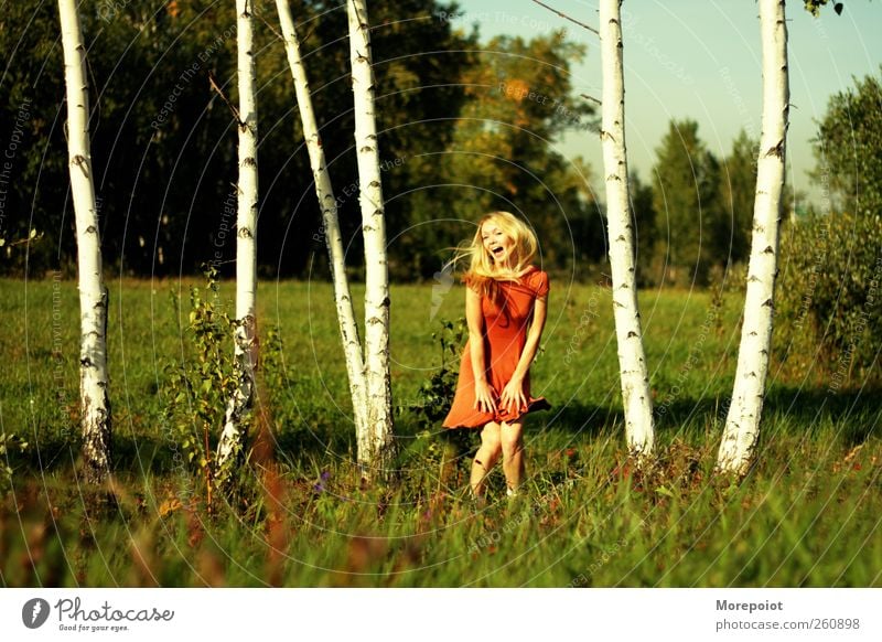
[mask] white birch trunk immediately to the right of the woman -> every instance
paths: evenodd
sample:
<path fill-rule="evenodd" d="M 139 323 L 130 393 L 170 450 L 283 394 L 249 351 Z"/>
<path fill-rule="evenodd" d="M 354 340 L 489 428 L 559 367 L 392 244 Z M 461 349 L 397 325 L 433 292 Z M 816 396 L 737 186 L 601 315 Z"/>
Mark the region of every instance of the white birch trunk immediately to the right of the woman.
<path fill-rule="evenodd" d="M 637 281 L 634 267 L 634 231 L 628 207 L 625 148 L 625 85 L 622 64 L 620 0 L 600 1 L 600 43 L 603 66 L 601 142 L 606 183 L 606 218 L 613 311 L 625 410 L 625 436 L 638 459 L 652 454 L 655 443 L 649 375 L 643 350 Z"/>

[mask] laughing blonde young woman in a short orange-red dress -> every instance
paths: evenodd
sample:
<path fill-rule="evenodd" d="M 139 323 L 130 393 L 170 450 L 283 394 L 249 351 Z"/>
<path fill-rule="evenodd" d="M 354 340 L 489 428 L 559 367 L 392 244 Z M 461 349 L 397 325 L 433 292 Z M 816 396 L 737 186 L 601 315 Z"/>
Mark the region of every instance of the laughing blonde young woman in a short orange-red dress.
<path fill-rule="evenodd" d="M 469 341 L 445 428 L 481 428 L 481 448 L 472 463 L 475 496 L 503 458 L 508 494 L 524 478 L 524 416 L 549 408 L 530 396 L 529 368 L 539 347 L 548 302 L 548 275 L 533 265 L 536 235 L 508 212 L 478 222 L 465 254 Z"/>

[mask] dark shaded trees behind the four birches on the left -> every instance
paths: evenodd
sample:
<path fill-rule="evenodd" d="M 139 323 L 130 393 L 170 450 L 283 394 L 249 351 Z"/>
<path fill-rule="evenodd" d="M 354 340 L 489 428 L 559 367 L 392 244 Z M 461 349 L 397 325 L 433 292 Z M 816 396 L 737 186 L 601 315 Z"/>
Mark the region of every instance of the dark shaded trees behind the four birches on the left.
<path fill-rule="evenodd" d="M 39 7 L 35 7 L 39 4 Z M 275 2 L 258 0 L 260 229 L 263 274 L 304 274 L 311 255 L 324 260 L 320 213 L 297 113 L 284 49 L 277 35 Z M 438 163 L 451 139 L 470 64 L 472 36 L 434 17 L 455 8 L 433 0 L 372 4 L 380 158 L 390 237 L 409 228 L 415 205 L 401 194 L 421 181 L 443 180 Z M 338 192 L 356 184 L 352 86 L 344 4 L 292 2 L 303 39 L 322 142 Z M 99 2 L 80 8 L 88 50 L 93 167 L 105 265 L 122 274 L 198 271 L 213 261 L 225 275 L 235 258 L 236 130 L 213 78 L 237 104 L 235 7 L 193 2 Z M 0 19 L 0 49 L 9 53 L 0 109 L 0 138 L 17 136 L 0 238 L 26 238 L 29 222 L 45 233 L 41 244 L 13 248 L 0 270 L 31 275 L 73 271 L 75 235 L 67 200 L 63 122 L 64 65 L 53 2 L 17 2 Z M 427 157 L 431 158 L 431 157 Z M 415 160 L 417 159 L 417 160 Z M 355 240 L 361 214 L 357 190 L 342 196 L 346 242 Z M 289 229 L 297 233 L 288 234 Z M 314 237 L 318 235 L 318 239 Z M 9 248 L 7 248 L 9 249 Z M 392 248 L 392 267 L 412 278 L 416 254 L 439 248 Z M 7 254 L 7 250 L 3 250 Z M 319 266 L 320 267 L 320 266 Z M 322 276 L 325 271 L 320 271 Z"/>

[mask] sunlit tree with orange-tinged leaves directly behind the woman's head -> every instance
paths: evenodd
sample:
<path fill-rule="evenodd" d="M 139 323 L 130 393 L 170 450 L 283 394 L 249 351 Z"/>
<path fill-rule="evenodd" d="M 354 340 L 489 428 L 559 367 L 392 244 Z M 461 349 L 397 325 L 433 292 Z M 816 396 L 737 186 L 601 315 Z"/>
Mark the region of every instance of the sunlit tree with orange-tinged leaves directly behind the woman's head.
<path fill-rule="evenodd" d="M 494 38 L 476 64 L 463 69 L 459 82 L 466 101 L 449 153 L 439 159 L 447 185 L 426 195 L 434 203 L 427 201 L 422 213 L 423 218 L 440 218 L 451 211 L 454 220 L 466 222 L 453 229 L 448 245 L 474 234 L 469 222 L 504 210 L 536 228 L 546 269 L 567 268 L 573 259 L 605 260 L 591 169 L 581 158 L 567 160 L 550 145 L 567 131 L 590 137 L 596 128 L 593 106 L 572 95 L 569 72 L 584 58 L 585 49 L 562 35 Z"/>

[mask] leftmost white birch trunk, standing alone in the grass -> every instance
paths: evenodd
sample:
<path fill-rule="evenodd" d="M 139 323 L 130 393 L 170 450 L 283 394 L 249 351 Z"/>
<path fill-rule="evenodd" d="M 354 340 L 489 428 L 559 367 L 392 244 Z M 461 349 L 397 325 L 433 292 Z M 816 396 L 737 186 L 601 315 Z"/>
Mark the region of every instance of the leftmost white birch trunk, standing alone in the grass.
<path fill-rule="evenodd" d="M 58 0 L 67 93 L 67 154 L 76 216 L 79 271 L 79 400 L 85 477 L 101 482 L 110 470 L 110 399 L 107 394 L 107 290 L 92 173 L 86 49 L 76 0 Z"/>

